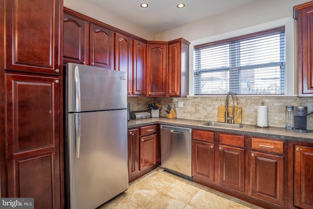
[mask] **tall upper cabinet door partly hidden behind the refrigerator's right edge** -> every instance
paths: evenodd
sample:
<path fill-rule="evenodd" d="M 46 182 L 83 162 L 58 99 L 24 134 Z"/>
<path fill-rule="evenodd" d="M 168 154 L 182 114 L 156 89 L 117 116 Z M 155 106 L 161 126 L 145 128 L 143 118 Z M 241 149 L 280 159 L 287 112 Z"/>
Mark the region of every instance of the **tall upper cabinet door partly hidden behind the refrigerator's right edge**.
<path fill-rule="evenodd" d="M 133 92 L 133 39 L 120 33 L 115 33 L 115 70 L 127 72 L 127 93 Z"/>

